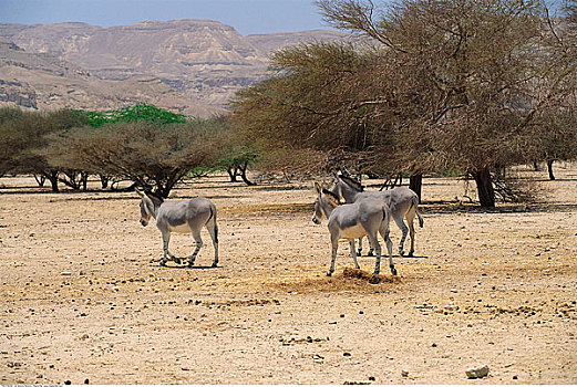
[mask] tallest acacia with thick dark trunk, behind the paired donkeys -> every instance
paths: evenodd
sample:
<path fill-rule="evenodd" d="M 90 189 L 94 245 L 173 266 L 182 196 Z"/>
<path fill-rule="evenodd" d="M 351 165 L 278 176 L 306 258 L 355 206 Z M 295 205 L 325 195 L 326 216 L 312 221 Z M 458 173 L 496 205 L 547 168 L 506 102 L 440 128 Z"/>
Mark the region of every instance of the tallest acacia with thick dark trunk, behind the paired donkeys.
<path fill-rule="evenodd" d="M 408 157 L 419 160 L 427 150 L 464 170 L 481 205 L 493 207 L 492 175 L 527 158 L 528 124 L 556 95 L 538 95 L 535 86 L 547 74 L 557 81 L 567 74 L 547 67 L 538 3 L 403 0 L 379 14 L 371 1 L 317 3 L 329 23 L 370 36 L 402 64 L 405 92 L 395 96 L 414 114 L 402 114 L 411 124 L 401 135 L 425 138 Z"/>

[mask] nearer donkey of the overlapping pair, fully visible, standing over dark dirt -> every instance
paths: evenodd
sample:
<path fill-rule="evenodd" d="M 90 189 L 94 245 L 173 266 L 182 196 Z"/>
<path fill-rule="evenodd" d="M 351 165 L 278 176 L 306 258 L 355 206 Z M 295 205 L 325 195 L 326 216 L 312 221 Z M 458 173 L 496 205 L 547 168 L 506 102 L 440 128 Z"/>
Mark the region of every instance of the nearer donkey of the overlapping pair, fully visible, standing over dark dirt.
<path fill-rule="evenodd" d="M 329 232 L 332 244 L 332 257 L 328 276 L 334 272 L 334 261 L 337 260 L 337 250 L 339 240 L 347 239 L 351 249 L 352 261 L 354 266 L 360 269 L 357 261 L 357 252 L 354 250 L 354 239 L 367 236 L 371 245 L 377 252 L 377 262 L 374 265 L 374 274 L 381 271 L 381 245 L 377 239 L 380 233 L 387 242 L 389 252 L 389 268 L 391 273 L 396 275 L 396 269 L 393 264 L 393 242 L 389 238 L 389 207 L 378 198 L 368 198 L 359 202 L 339 206 L 339 197 L 328 189 L 322 188 L 315 182 L 315 189 L 319 195 L 315 200 L 315 212 L 312 221 L 320 224 L 322 219 L 329 220 Z"/>

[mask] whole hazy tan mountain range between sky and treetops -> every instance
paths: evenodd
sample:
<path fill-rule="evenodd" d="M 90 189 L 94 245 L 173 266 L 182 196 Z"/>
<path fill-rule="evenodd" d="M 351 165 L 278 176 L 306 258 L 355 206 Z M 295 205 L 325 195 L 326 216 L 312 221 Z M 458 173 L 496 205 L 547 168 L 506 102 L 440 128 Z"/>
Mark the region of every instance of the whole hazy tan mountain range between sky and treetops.
<path fill-rule="evenodd" d="M 20 102 L 37 107 L 55 106 L 54 98 L 62 104 L 70 98 L 74 104 L 104 108 L 104 101 L 114 105 L 147 97 L 159 106 L 161 100 L 171 101 L 172 107 L 181 111 L 186 109 L 184 103 L 198 106 L 188 109 L 209 114 L 210 109 L 226 107 L 240 87 L 268 76 L 271 52 L 299 42 L 344 36 L 322 30 L 243 36 L 217 21 L 190 19 L 111 28 L 85 23 L 0 23 L 0 39 L 7 42 L 0 61 L 0 100 L 8 83 L 14 88 L 13 83 L 19 82 Z M 9 49 L 8 42 L 25 51 Z M 18 56 L 25 64 L 17 71 L 8 56 Z M 59 97 L 50 96 L 47 90 L 47 82 L 53 81 L 49 76 L 60 81 Z M 64 80 L 75 85 L 74 92 L 69 93 Z"/>

